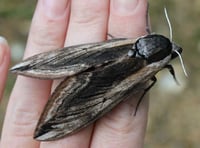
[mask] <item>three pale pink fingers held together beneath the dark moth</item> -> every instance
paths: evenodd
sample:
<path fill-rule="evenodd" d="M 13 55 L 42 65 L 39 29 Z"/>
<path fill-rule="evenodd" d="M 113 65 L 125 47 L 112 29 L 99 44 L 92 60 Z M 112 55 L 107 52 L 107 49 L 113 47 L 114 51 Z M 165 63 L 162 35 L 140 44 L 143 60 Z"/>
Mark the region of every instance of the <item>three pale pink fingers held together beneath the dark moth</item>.
<path fill-rule="evenodd" d="M 39 0 L 24 58 L 63 46 L 103 41 L 107 33 L 114 37 L 137 38 L 146 34 L 146 8 L 146 0 L 60 0 L 59 3 L 56 0 Z M 53 82 L 53 88 L 57 83 Z M 7 106 L 1 147 L 143 147 L 148 99 L 143 99 L 137 115 L 132 116 L 138 96 L 130 97 L 95 125 L 71 136 L 41 143 L 34 140 L 33 132 L 51 86 L 51 81 L 17 77 Z"/>

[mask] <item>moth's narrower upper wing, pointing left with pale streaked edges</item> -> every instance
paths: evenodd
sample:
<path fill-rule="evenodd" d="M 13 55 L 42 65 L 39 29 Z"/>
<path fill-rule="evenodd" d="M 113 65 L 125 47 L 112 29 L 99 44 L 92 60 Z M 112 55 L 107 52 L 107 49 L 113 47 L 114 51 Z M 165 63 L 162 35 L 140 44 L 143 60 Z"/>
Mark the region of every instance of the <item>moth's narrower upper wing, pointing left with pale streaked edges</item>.
<path fill-rule="evenodd" d="M 91 67 L 99 67 L 126 56 L 133 39 L 69 46 L 32 56 L 11 68 L 13 73 L 55 79 L 72 76 Z"/>

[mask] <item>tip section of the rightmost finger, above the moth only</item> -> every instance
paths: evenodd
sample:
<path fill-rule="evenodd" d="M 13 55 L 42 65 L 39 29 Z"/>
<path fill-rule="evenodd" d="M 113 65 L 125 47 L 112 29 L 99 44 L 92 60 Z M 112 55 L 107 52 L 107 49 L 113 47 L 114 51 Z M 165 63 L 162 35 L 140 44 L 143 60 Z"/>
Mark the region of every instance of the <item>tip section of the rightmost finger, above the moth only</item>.
<path fill-rule="evenodd" d="M 145 35 L 146 8 L 146 0 L 112 0 L 108 32 L 113 36 L 126 38 Z"/>

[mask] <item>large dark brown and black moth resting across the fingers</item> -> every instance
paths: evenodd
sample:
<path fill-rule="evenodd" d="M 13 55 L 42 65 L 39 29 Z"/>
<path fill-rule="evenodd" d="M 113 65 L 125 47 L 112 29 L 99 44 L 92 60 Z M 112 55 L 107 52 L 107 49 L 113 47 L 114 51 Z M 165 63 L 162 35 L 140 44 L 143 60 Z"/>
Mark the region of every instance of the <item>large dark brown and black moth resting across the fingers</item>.
<path fill-rule="evenodd" d="M 155 84 L 157 72 L 167 68 L 176 79 L 169 62 L 181 52 L 167 37 L 149 34 L 41 53 L 11 71 L 41 79 L 65 78 L 51 95 L 35 130 L 35 139 L 48 141 L 79 131 L 128 96 L 143 91 L 138 108 Z"/>

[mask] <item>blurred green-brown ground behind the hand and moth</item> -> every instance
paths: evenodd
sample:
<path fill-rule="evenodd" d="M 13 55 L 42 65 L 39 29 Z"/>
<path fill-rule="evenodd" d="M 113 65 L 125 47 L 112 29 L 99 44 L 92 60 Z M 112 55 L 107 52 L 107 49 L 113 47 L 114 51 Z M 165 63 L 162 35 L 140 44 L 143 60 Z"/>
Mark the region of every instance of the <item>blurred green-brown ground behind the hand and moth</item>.
<path fill-rule="evenodd" d="M 150 0 L 149 2 L 153 32 L 169 36 L 163 13 L 164 6 L 167 7 L 173 28 L 173 40 L 184 49 L 182 56 L 189 77 L 184 76 L 178 60 L 172 64 L 180 86 L 176 85 L 167 70 L 157 75 L 158 82 L 150 93 L 145 147 L 199 148 L 200 1 Z M 12 64 L 22 58 L 35 5 L 36 1 L 33 0 L 0 1 L 0 35 L 6 37 L 11 46 Z M 9 74 L 0 106 L 0 126 L 14 81 L 15 76 Z"/>

